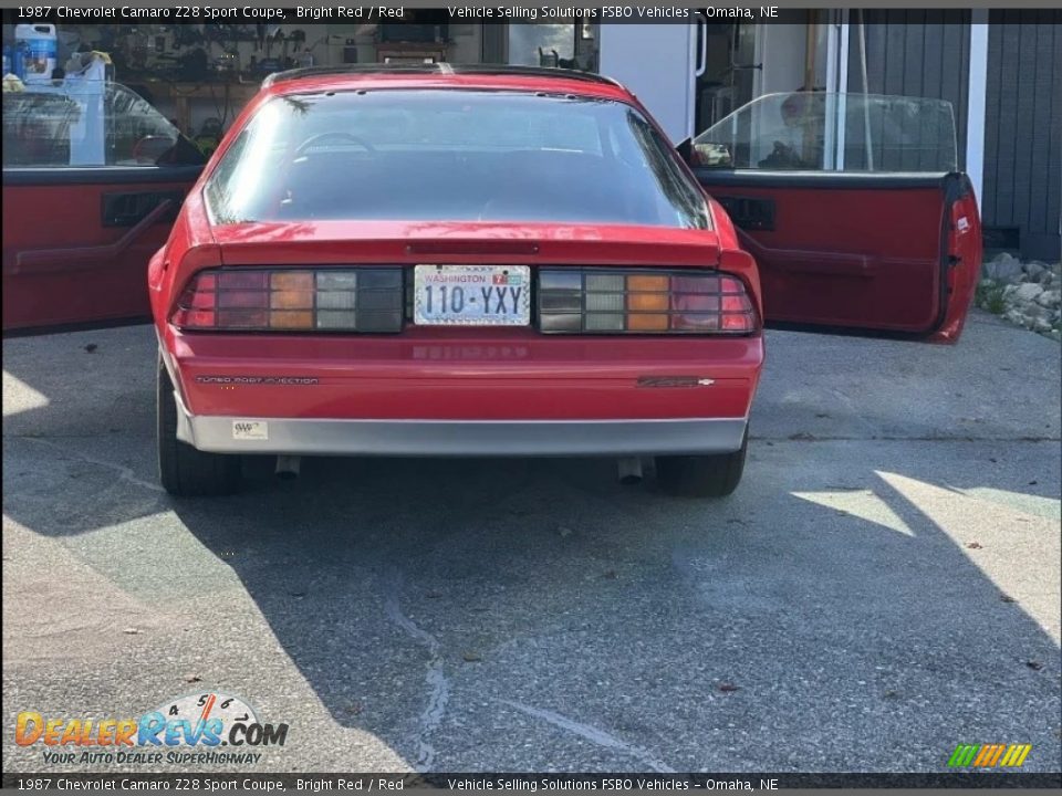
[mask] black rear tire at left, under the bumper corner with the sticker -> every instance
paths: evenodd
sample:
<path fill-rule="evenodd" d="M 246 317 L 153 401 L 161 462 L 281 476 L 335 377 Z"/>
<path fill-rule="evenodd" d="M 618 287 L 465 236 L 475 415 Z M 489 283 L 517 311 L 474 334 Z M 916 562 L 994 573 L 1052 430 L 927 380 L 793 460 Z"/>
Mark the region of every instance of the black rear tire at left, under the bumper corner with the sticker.
<path fill-rule="evenodd" d="M 158 475 L 165 490 L 180 498 L 232 494 L 239 490 L 240 457 L 205 453 L 177 439 L 177 401 L 162 356 L 155 406 Z"/>

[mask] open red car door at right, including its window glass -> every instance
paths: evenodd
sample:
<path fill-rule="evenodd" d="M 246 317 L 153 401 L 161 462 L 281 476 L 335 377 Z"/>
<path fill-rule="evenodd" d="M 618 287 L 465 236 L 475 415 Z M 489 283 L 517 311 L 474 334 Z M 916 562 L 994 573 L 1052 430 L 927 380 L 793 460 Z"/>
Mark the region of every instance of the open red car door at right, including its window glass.
<path fill-rule="evenodd" d="M 759 264 L 769 324 L 958 339 L 981 228 L 949 103 L 769 94 L 684 149 Z"/>

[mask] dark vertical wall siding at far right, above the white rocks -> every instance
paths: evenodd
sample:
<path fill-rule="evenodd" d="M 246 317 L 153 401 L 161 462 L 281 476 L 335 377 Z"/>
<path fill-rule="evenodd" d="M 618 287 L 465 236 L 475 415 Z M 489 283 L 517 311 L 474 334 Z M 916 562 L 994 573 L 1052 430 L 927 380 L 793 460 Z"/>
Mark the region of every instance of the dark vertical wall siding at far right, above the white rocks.
<path fill-rule="evenodd" d="M 1024 256 L 1059 260 L 1062 11 L 989 14 L 982 192 L 986 227 L 1017 229 Z"/>

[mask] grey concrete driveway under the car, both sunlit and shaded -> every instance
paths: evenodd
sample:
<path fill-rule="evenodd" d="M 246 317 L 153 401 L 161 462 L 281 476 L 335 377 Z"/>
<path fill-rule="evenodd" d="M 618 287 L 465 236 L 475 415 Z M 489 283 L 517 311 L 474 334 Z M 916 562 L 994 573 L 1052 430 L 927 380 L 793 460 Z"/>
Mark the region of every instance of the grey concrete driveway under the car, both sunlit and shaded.
<path fill-rule="evenodd" d="M 144 771 L 45 765 L 15 714 L 218 689 L 290 724 L 249 771 L 1059 771 L 1058 344 L 768 343 L 727 500 L 312 460 L 175 502 L 149 327 L 4 342 L 6 769 Z"/>

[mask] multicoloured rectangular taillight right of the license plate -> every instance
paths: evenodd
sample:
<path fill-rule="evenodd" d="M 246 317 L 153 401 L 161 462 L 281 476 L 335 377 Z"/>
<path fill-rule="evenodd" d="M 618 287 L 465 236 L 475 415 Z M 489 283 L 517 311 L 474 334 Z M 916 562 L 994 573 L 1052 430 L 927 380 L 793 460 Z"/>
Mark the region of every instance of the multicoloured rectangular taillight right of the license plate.
<path fill-rule="evenodd" d="M 539 327 L 560 334 L 748 334 L 745 283 L 728 274 L 541 269 Z"/>

